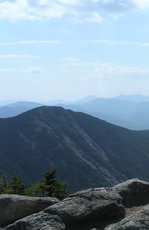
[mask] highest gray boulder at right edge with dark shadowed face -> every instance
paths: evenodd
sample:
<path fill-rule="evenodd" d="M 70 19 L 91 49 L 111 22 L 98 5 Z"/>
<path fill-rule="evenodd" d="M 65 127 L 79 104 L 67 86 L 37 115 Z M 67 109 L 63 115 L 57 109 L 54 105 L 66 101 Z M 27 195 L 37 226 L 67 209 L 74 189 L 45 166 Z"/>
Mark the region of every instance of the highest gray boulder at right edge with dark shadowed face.
<path fill-rule="evenodd" d="M 125 181 L 113 187 L 123 197 L 125 207 L 149 203 L 149 183 L 139 179 Z"/>

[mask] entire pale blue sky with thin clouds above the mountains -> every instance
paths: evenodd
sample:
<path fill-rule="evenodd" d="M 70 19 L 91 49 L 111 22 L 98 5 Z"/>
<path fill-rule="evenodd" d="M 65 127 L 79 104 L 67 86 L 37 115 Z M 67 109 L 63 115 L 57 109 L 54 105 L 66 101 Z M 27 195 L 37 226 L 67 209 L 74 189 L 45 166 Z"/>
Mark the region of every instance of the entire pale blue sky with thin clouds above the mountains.
<path fill-rule="evenodd" d="M 0 100 L 149 95 L 149 0 L 1 0 Z"/>

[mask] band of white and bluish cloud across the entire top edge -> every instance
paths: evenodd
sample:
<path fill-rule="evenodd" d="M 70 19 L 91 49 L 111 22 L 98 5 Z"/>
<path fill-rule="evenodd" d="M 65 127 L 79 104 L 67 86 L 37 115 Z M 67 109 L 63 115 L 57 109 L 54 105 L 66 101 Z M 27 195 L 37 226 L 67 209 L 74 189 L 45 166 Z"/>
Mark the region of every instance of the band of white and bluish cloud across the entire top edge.
<path fill-rule="evenodd" d="M 149 0 L 14 0 L 0 2 L 0 18 L 49 20 L 69 17 L 100 23 L 104 17 L 118 19 L 130 11 L 149 9 Z"/>

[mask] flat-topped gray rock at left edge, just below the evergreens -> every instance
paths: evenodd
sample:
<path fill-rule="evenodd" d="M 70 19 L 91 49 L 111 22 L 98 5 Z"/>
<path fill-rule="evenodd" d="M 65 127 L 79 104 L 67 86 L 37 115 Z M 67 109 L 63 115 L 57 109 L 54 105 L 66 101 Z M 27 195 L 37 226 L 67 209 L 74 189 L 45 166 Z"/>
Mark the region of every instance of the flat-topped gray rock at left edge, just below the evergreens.
<path fill-rule="evenodd" d="M 50 197 L 0 195 L 0 226 L 6 226 L 25 216 L 42 211 L 57 202 L 58 199 Z"/>

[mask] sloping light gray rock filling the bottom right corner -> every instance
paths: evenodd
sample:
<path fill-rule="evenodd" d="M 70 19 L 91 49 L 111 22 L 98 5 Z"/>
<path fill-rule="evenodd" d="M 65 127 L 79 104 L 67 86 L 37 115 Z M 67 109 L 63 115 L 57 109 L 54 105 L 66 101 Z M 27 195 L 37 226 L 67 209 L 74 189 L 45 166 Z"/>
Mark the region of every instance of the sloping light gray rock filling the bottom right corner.
<path fill-rule="evenodd" d="M 147 230 L 149 229 L 149 205 L 133 213 L 120 222 L 110 225 L 105 230 Z"/>

